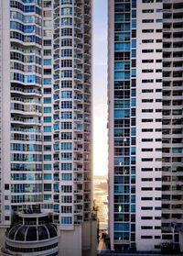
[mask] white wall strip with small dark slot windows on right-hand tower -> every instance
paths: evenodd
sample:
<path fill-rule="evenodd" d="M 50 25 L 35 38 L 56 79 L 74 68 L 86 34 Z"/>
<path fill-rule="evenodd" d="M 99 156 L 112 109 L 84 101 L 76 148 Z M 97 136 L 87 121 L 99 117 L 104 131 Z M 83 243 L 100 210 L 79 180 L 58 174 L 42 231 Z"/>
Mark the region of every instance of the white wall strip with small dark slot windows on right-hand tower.
<path fill-rule="evenodd" d="M 157 139 L 162 138 L 162 102 L 158 100 L 162 99 L 162 33 L 157 32 L 157 29 L 162 30 L 162 12 L 156 12 L 156 9 L 162 10 L 162 6 L 162 3 L 137 3 L 135 236 L 137 250 L 155 250 L 161 239 L 159 208 L 161 208 L 162 144 Z M 153 9 L 154 12 L 144 13 L 145 9 Z M 148 19 L 153 19 L 154 23 L 145 23 Z M 156 22 L 158 19 L 161 22 Z M 154 29 L 154 32 L 144 32 L 145 29 Z M 144 50 L 147 52 L 143 52 Z M 157 79 L 161 82 L 158 83 Z M 149 239 L 143 239 L 148 236 Z"/>

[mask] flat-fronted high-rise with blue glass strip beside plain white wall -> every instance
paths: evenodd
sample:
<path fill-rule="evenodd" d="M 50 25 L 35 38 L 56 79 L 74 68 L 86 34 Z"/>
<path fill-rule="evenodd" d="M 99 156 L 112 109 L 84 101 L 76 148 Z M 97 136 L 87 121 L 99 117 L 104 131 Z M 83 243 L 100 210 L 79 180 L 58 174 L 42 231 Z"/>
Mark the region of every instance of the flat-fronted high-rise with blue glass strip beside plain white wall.
<path fill-rule="evenodd" d="M 112 250 L 183 250 L 183 2 L 109 0 Z"/>

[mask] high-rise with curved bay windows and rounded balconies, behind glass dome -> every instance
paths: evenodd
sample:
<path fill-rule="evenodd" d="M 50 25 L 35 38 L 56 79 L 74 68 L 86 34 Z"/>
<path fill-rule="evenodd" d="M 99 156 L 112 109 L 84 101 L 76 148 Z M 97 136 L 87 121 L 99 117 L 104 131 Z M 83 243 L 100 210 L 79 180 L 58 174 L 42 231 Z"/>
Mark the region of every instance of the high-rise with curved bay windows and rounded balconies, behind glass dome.
<path fill-rule="evenodd" d="M 92 0 L 0 0 L 0 94 L 1 233 L 39 205 L 90 249 Z"/>

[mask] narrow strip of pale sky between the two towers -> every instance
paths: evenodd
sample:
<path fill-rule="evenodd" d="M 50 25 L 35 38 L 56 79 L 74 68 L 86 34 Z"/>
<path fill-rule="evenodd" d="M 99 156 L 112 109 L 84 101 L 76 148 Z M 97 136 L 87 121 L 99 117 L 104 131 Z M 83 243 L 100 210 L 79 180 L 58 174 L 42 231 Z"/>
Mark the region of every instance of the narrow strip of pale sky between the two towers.
<path fill-rule="evenodd" d="M 93 173 L 107 174 L 107 0 L 93 1 Z"/>

